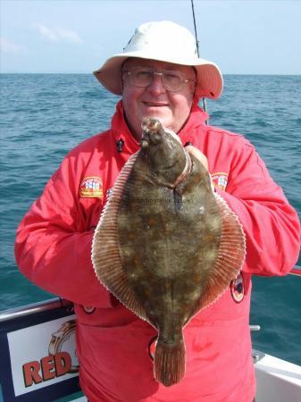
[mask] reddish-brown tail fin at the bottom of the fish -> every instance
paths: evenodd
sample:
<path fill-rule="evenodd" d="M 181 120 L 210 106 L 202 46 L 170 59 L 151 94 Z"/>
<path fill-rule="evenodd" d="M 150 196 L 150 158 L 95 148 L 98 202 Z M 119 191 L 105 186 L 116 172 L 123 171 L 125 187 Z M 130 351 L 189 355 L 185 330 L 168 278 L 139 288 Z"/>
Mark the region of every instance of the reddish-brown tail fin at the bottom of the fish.
<path fill-rule="evenodd" d="M 177 344 L 170 344 L 158 339 L 154 359 L 155 380 L 170 387 L 184 377 L 185 344 L 182 339 Z"/>

